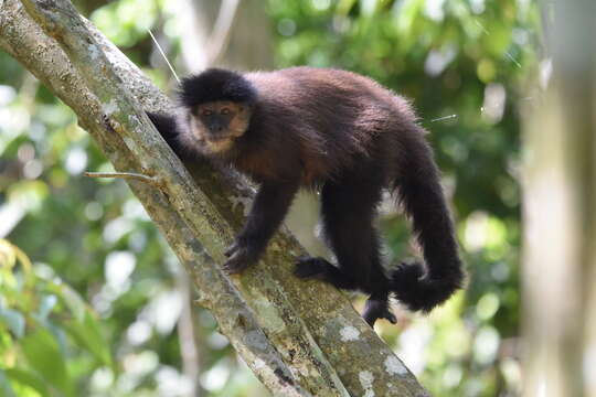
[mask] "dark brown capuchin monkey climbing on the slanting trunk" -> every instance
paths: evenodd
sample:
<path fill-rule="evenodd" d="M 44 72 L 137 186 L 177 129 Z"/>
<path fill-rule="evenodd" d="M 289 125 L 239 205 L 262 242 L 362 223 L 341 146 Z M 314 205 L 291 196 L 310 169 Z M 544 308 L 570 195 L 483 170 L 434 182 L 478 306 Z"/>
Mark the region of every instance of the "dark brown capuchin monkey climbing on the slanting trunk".
<path fill-rule="evenodd" d="M 396 322 L 393 294 L 428 312 L 461 288 L 465 273 L 439 171 L 425 130 L 404 98 L 354 73 L 291 67 L 275 72 L 211 68 L 184 78 L 177 115 L 149 114 L 184 161 L 233 165 L 260 187 L 224 268 L 254 264 L 300 186 L 320 189 L 332 265 L 300 258 L 296 275 L 370 294 L 364 320 Z M 412 218 L 424 262 L 381 265 L 373 219 L 384 189 Z"/>

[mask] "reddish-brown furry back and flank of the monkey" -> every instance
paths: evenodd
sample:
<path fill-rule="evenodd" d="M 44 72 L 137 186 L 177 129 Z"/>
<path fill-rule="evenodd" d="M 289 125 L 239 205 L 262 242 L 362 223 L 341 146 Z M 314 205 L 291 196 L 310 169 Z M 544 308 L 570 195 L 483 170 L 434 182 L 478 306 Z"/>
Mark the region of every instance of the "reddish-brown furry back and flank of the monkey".
<path fill-rule="evenodd" d="M 363 162 L 393 162 L 400 136 L 415 122 L 404 98 L 351 72 L 291 67 L 245 77 L 258 98 L 247 137 L 258 141 L 260 161 L 268 162 L 255 165 L 281 174 L 299 168 L 305 184 Z"/>

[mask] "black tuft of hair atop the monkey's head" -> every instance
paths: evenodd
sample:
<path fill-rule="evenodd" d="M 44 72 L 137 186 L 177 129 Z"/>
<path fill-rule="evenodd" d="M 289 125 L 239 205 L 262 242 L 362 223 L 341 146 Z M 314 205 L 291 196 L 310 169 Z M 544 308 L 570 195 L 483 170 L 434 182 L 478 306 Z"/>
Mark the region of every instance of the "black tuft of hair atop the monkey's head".
<path fill-rule="evenodd" d="M 183 78 L 179 90 L 182 105 L 189 108 L 220 100 L 253 105 L 256 96 L 256 89 L 242 74 L 222 68 Z"/>

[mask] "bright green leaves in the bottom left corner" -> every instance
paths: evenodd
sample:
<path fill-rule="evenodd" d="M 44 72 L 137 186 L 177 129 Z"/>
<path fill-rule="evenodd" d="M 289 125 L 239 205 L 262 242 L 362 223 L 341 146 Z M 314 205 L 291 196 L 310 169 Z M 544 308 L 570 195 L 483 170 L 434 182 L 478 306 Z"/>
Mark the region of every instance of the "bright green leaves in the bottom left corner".
<path fill-rule="evenodd" d="M 50 268 L 33 266 L 4 239 L 0 290 L 0 378 L 7 396 L 76 396 L 78 377 L 113 366 L 96 313 Z M 85 371 L 71 371 L 81 355 L 94 360 Z"/>

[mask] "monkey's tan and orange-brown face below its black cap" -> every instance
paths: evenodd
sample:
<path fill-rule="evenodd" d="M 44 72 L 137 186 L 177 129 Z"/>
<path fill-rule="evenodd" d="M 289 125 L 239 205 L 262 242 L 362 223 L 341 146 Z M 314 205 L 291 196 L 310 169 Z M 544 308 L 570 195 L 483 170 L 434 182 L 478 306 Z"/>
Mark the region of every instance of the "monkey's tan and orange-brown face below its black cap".
<path fill-rule="evenodd" d="M 248 128 L 248 106 L 227 100 L 206 103 L 191 111 L 190 130 L 207 153 L 227 151 Z"/>

